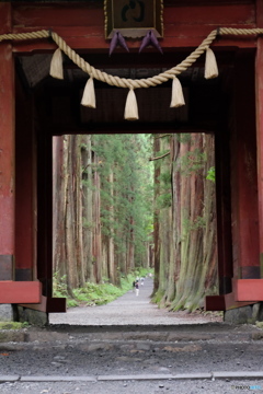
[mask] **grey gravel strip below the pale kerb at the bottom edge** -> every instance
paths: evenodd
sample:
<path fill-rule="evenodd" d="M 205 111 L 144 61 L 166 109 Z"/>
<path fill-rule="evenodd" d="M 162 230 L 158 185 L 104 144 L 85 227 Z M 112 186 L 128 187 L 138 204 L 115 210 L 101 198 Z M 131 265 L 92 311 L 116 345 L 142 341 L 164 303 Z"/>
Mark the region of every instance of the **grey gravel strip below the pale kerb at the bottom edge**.
<path fill-rule="evenodd" d="M 253 387 L 255 387 L 253 390 Z M 1 394 L 230 394 L 230 393 L 262 393 L 262 381 L 153 381 L 153 382 L 94 382 L 94 383 L 4 383 Z"/>

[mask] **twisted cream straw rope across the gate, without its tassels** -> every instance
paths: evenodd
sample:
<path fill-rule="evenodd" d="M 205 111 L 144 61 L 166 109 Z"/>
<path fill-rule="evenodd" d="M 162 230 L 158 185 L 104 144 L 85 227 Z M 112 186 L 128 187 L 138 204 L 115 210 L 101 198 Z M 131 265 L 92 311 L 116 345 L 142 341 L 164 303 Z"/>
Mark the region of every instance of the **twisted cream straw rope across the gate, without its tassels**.
<path fill-rule="evenodd" d="M 214 30 L 208 34 L 208 36 L 202 42 L 202 44 L 181 63 L 162 72 L 158 76 L 147 78 L 147 79 L 125 79 L 115 76 L 111 76 L 106 72 L 95 69 L 89 62 L 84 61 L 73 49 L 71 49 L 66 42 L 55 32 L 48 31 L 38 31 L 32 33 L 20 33 L 20 34 L 3 34 L 0 35 L 0 42 L 3 39 L 33 39 L 33 38 L 46 38 L 52 36 L 57 46 L 84 72 L 89 73 L 99 81 L 105 82 L 110 85 L 118 88 L 150 88 L 167 82 L 169 79 L 172 79 L 174 76 L 180 74 L 191 67 L 198 57 L 204 54 L 204 51 L 210 46 L 217 35 L 259 35 L 263 34 L 263 28 L 229 28 L 221 27 L 219 30 Z"/>

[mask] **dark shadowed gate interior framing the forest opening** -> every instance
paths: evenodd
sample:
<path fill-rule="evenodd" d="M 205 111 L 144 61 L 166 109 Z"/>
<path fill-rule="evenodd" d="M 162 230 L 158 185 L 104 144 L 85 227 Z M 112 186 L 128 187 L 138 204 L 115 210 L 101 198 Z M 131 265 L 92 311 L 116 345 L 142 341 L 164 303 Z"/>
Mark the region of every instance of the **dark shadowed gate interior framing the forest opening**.
<path fill-rule="evenodd" d="M 132 62 L 121 54 L 114 60 L 89 55 L 89 62 L 112 74 L 139 79 L 184 58 L 181 50 L 165 58 L 134 55 Z M 233 277 L 260 278 L 253 50 L 219 51 L 219 78 L 214 80 L 204 79 L 203 59 L 183 72 L 184 107 L 170 108 L 171 81 L 136 90 L 137 121 L 124 120 L 126 90 L 95 81 L 96 109 L 82 107 L 87 74 L 67 60 L 65 79 L 55 80 L 48 76 L 49 63 L 48 54 L 16 58 L 15 280 L 38 279 L 44 297 L 41 304 L 26 306 L 46 312 L 65 309 L 52 290 L 53 136 L 168 130 L 215 134 L 219 296 L 208 299 L 207 309 L 248 304 L 225 294 L 232 293 Z"/>

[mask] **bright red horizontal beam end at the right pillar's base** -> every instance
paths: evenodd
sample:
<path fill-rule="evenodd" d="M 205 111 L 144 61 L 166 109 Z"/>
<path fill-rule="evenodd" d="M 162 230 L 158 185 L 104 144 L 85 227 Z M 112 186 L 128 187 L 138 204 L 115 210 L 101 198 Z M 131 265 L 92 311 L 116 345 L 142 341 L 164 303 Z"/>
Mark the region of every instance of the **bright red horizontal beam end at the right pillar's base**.
<path fill-rule="evenodd" d="M 232 280 L 236 301 L 263 301 L 263 279 Z"/>

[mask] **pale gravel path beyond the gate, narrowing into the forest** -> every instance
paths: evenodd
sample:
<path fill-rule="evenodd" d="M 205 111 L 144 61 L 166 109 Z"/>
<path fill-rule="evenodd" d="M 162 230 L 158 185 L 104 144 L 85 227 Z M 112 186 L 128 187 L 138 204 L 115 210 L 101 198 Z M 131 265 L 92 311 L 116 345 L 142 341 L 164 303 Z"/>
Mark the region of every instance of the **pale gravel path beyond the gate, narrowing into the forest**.
<path fill-rule="evenodd" d="M 221 321 L 221 317 L 215 314 L 160 310 L 157 304 L 150 302 L 152 288 L 152 278 L 146 278 L 145 285 L 139 288 L 138 297 L 132 289 L 106 305 L 77 306 L 68 309 L 67 313 L 50 313 L 49 323 L 105 326 L 204 324 Z"/>

